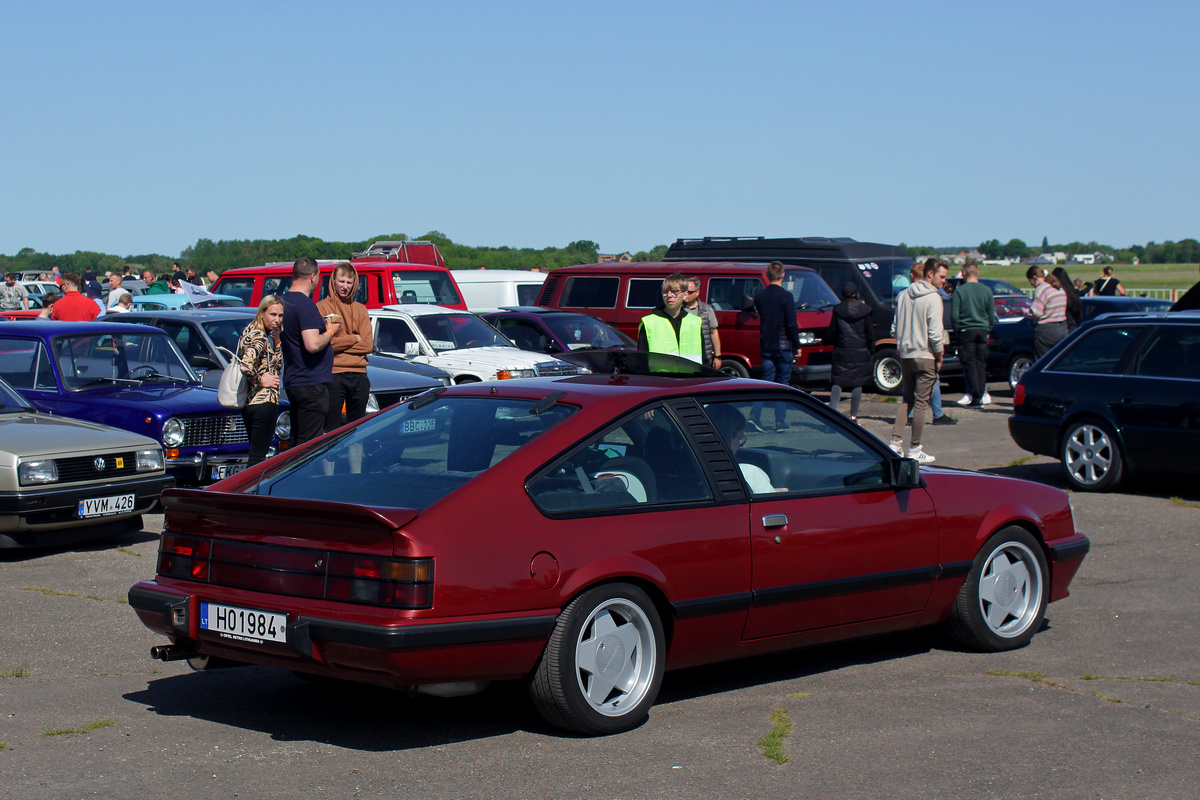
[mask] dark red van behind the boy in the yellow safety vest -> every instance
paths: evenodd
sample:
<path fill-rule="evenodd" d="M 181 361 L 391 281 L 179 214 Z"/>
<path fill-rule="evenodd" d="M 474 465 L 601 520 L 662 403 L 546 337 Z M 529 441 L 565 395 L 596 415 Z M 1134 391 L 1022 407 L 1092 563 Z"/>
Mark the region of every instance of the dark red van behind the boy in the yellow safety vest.
<path fill-rule="evenodd" d="M 662 302 L 662 278 L 679 272 L 700 281 L 700 299 L 716 312 L 721 336 L 721 369 L 749 377 L 762 368 L 758 314 L 754 296 L 767 287 L 764 264 L 709 261 L 644 261 L 564 266 L 546 278 L 538 305 L 580 311 L 602 319 L 635 339 L 637 324 Z M 828 341 L 838 297 L 806 266 L 788 266 L 784 288 L 796 300 L 800 355 L 792 368 L 796 383 L 829 380 L 833 344 Z"/>

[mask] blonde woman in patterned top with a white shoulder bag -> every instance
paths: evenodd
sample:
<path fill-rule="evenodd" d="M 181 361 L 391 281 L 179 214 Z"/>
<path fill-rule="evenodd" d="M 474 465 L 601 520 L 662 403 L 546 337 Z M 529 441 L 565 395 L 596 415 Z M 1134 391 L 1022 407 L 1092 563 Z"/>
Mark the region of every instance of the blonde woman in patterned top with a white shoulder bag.
<path fill-rule="evenodd" d="M 246 375 L 246 408 L 241 419 L 250 438 L 250 459 L 253 467 L 266 458 L 280 415 L 280 373 L 283 372 L 283 351 L 280 350 L 280 325 L 283 324 L 283 301 L 266 295 L 258 303 L 258 313 L 241 332 L 238 361 Z"/>

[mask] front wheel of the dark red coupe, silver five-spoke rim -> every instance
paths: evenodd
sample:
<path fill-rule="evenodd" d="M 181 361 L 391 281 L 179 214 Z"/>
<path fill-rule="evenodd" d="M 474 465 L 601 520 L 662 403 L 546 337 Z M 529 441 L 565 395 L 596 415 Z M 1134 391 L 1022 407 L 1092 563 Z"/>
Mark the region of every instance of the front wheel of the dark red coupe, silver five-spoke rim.
<path fill-rule="evenodd" d="M 1004 528 L 976 557 L 946 631 L 977 650 L 1024 648 L 1042 627 L 1049 591 L 1042 545 L 1024 528 Z"/>

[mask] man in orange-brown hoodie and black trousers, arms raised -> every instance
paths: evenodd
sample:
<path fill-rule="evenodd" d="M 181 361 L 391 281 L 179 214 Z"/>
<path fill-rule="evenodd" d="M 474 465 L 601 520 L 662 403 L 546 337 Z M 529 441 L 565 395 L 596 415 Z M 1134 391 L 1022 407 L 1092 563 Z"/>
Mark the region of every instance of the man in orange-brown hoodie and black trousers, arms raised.
<path fill-rule="evenodd" d="M 349 261 L 342 261 L 334 267 L 334 273 L 329 278 L 329 295 L 317 303 L 317 311 L 322 317 L 337 314 L 342 318 L 342 330 L 330 342 L 330 347 L 334 348 L 334 383 L 329 386 L 329 416 L 325 419 L 325 431 L 340 428 L 367 415 L 367 398 L 371 395 L 367 354 L 374 349 L 374 338 L 371 335 L 367 307 L 354 299 L 358 291 L 358 270 Z"/>

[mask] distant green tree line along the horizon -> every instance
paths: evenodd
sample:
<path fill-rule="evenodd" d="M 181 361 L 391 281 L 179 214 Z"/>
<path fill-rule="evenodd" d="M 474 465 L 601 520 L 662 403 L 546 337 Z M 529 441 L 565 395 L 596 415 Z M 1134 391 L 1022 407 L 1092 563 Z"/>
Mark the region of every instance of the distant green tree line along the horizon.
<path fill-rule="evenodd" d="M 150 253 L 144 255 L 110 255 L 107 253 L 95 253 L 90 251 L 78 251 L 71 254 L 53 255 L 50 253 L 38 253 L 32 247 L 25 247 L 16 255 L 0 254 L 0 272 L 10 271 L 38 271 L 49 272 L 52 267 L 59 267 L 60 272 L 79 272 L 88 270 L 102 275 L 103 272 L 120 272 L 126 265 L 134 271 L 151 269 L 155 272 L 167 272 L 174 261 L 185 266 L 191 266 L 199 275 L 209 270 L 224 272 L 236 266 L 254 266 L 269 261 L 294 261 L 301 255 L 312 258 L 349 258 L 350 253 L 365 251 L 371 242 L 380 240 L 403 240 L 409 237 L 404 234 L 385 234 L 364 239 L 354 242 L 324 241 L 314 236 L 293 236 L 292 239 L 239 239 L 212 241 L 200 239 L 191 247 L 184 249 L 179 258 Z M 541 266 L 556 269 L 572 264 L 592 264 L 599 257 L 599 246 L 594 241 L 581 239 L 572 241 L 565 247 L 470 247 L 458 245 L 445 234 L 431 230 L 416 239 L 430 240 L 437 243 L 442 255 L 446 259 L 446 266 L 452 270 L 473 270 L 481 266 L 490 270 L 532 270 Z M 937 255 L 947 252 L 958 252 L 956 247 L 923 247 L 907 246 L 901 242 L 913 258 Z M 1043 237 L 1042 247 L 1030 247 L 1020 239 L 1010 239 L 1002 243 L 997 239 L 980 242 L 978 247 L 984 258 L 1012 258 L 1024 259 L 1045 252 L 1066 253 L 1108 253 L 1114 260 L 1120 263 L 1132 263 L 1138 258 L 1142 264 L 1195 264 L 1200 263 L 1200 242 L 1195 239 L 1182 241 L 1166 241 L 1163 243 L 1148 242 L 1145 246 L 1133 245 L 1128 248 L 1114 248 L 1097 242 L 1070 242 L 1067 245 L 1051 245 Z M 635 261 L 662 260 L 667 246 L 659 245 L 649 251 L 632 253 Z"/>

